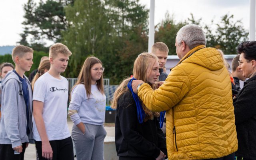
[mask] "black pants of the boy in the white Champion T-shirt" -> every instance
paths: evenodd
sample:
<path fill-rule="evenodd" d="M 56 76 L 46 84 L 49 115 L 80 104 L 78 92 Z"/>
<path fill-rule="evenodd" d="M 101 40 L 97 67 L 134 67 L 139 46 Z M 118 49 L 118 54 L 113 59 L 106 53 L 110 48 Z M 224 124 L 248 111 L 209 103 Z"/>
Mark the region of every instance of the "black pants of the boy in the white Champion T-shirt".
<path fill-rule="evenodd" d="M 42 141 L 35 141 L 39 160 L 47 160 L 42 157 Z M 50 140 L 52 147 L 52 160 L 74 160 L 72 138 L 63 140 Z"/>

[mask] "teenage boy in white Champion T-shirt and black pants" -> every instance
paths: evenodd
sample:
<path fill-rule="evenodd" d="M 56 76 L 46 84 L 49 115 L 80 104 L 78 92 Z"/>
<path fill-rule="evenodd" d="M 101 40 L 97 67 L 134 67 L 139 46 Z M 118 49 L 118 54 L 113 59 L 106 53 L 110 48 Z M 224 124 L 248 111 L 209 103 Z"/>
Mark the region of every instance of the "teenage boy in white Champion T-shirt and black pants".
<path fill-rule="evenodd" d="M 34 84 L 33 133 L 39 160 L 74 160 L 67 124 L 68 80 L 66 70 L 72 53 L 61 43 L 50 47 L 50 70 Z"/>

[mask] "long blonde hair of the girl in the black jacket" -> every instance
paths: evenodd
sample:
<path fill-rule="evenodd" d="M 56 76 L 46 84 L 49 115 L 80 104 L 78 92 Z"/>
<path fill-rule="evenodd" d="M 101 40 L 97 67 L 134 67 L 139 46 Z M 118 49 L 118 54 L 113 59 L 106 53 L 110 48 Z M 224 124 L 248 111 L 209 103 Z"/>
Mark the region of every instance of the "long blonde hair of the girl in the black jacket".
<path fill-rule="evenodd" d="M 134 78 L 136 78 L 137 80 L 143 80 L 145 83 L 148 83 L 147 80 L 147 74 L 146 71 L 149 67 L 151 67 L 152 64 L 154 64 L 156 61 L 158 61 L 158 58 L 154 55 L 154 54 L 149 54 L 149 53 L 142 53 L 140 55 L 138 55 L 138 57 L 136 58 L 134 65 L 133 65 L 133 76 Z M 112 99 L 112 103 L 111 103 L 111 107 L 112 108 L 116 108 L 117 106 L 117 102 L 118 99 L 120 98 L 120 96 L 122 96 L 125 92 L 130 92 L 127 84 L 129 82 L 131 78 L 126 78 L 124 79 L 120 85 L 118 86 L 118 88 L 116 89 L 113 99 Z M 150 84 L 150 86 L 153 89 L 156 89 L 156 85 L 154 84 Z M 132 93 L 131 93 L 132 94 Z M 140 102 L 142 103 L 142 101 L 140 100 Z M 151 110 L 148 110 L 148 108 L 146 108 L 146 106 L 142 103 L 142 108 L 146 114 L 144 121 L 147 121 L 149 119 L 152 119 L 155 117 L 159 117 L 159 113 L 158 112 L 152 112 Z"/>

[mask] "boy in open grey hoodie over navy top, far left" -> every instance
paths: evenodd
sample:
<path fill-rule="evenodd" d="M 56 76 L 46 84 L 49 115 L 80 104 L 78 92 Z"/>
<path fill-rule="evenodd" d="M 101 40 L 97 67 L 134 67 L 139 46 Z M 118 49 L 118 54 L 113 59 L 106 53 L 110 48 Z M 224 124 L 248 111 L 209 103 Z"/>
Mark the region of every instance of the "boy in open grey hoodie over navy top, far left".
<path fill-rule="evenodd" d="M 32 139 L 32 88 L 24 75 L 33 64 L 33 49 L 19 45 L 12 50 L 15 70 L 2 81 L 0 159 L 23 160 Z"/>

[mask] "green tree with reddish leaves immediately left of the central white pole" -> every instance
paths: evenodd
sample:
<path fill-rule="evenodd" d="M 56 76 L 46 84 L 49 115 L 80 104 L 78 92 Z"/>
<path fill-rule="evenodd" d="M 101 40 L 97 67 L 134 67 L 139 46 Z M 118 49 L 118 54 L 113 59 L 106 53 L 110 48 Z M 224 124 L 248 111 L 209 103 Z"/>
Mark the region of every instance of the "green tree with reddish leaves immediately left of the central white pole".
<path fill-rule="evenodd" d="M 148 47 L 148 9 L 139 0 L 105 0 L 114 29 L 114 57 L 110 78 L 118 84 L 132 74 L 134 60 Z"/>

